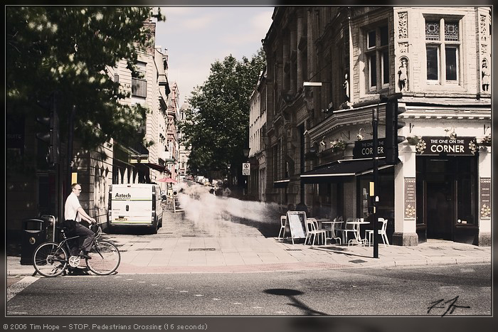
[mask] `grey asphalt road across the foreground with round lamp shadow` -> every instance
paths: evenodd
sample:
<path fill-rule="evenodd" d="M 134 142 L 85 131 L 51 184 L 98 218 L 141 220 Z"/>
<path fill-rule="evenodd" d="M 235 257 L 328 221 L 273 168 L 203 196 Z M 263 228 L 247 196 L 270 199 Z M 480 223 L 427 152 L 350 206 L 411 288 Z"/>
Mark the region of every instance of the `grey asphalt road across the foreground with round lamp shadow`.
<path fill-rule="evenodd" d="M 485 264 L 40 278 L 7 303 L 7 316 L 486 316 L 490 310 Z"/>

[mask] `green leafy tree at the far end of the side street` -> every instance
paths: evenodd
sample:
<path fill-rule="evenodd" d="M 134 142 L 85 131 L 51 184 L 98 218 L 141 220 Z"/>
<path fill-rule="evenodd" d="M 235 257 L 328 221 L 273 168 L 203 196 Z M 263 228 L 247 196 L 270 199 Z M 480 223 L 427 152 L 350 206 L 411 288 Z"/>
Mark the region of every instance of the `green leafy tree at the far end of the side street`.
<path fill-rule="evenodd" d="M 189 98 L 181 130 L 190 146 L 189 168 L 201 173 L 243 162 L 249 134 L 249 97 L 265 67 L 263 48 L 249 60 L 232 55 L 211 64 L 211 73 Z"/>

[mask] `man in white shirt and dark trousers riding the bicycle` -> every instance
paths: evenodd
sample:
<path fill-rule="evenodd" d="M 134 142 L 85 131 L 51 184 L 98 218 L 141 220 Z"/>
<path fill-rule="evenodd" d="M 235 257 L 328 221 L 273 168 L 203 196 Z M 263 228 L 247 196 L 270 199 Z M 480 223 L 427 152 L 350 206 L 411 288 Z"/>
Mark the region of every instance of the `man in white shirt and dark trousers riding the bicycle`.
<path fill-rule="evenodd" d="M 92 257 L 88 255 L 88 252 L 92 247 L 95 233 L 87 227 L 80 225 L 80 222 L 83 219 L 89 223 L 95 223 L 95 219 L 91 218 L 90 215 L 88 215 L 81 207 L 80 200 L 78 200 L 80 193 L 80 183 L 73 183 L 71 185 L 71 193 L 65 200 L 64 205 L 65 227 L 68 228 L 69 235 L 80 235 L 78 238 L 78 248 L 76 248 L 79 251 L 78 256 L 91 259 Z M 74 252 L 71 252 L 71 255 L 73 254 Z"/>

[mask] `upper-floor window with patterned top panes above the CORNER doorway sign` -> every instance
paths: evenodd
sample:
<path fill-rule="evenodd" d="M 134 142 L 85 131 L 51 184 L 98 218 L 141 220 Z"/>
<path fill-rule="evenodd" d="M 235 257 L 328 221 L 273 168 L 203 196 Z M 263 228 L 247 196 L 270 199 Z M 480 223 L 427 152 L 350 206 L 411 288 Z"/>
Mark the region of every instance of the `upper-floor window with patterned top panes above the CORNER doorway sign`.
<path fill-rule="evenodd" d="M 460 22 L 448 18 L 425 21 L 427 80 L 432 83 L 458 83 Z"/>

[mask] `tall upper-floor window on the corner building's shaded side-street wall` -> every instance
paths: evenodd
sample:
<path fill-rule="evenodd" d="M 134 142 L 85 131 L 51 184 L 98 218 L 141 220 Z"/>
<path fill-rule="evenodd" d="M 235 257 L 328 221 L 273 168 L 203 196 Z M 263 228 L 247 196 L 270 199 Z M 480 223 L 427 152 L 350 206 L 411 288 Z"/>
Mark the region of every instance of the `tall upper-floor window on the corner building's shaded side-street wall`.
<path fill-rule="evenodd" d="M 366 65 L 368 90 L 376 91 L 389 85 L 388 26 L 378 26 L 366 33 Z"/>

